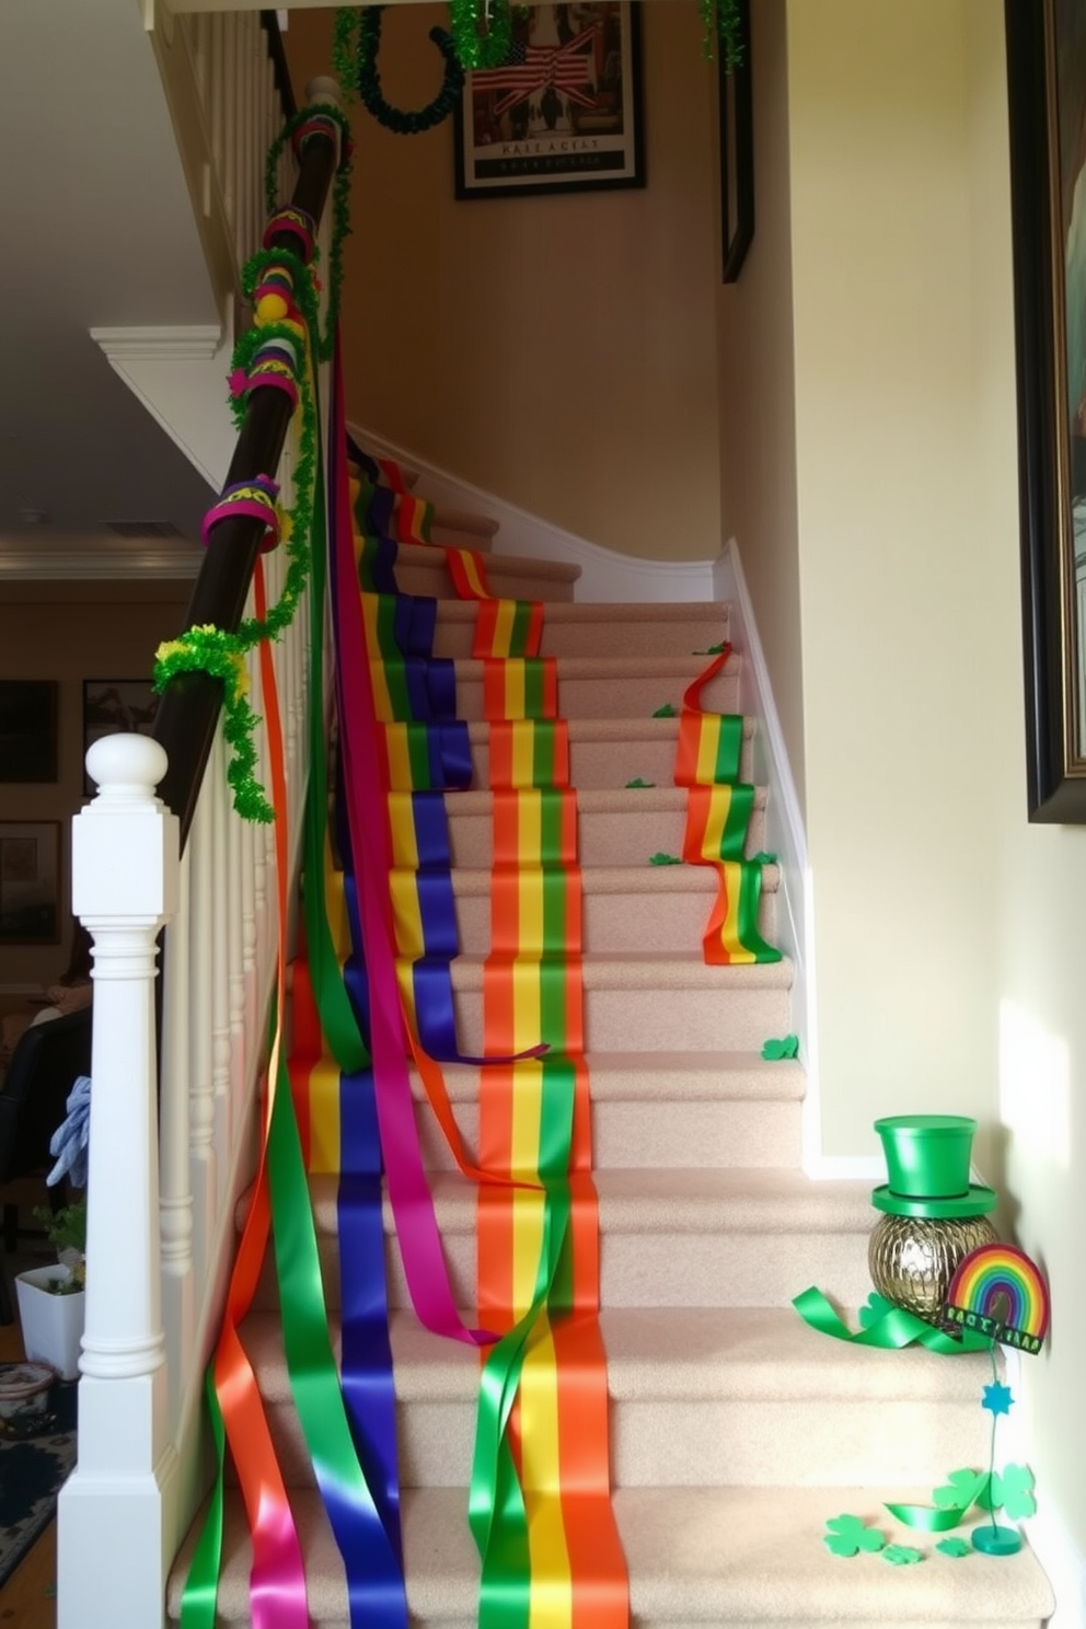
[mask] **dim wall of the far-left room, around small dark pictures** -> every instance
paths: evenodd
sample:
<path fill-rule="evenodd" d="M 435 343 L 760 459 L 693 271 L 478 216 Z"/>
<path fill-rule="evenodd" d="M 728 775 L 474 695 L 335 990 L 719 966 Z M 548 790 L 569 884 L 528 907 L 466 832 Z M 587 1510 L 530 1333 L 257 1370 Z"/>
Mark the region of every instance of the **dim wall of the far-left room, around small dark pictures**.
<path fill-rule="evenodd" d="M 0 946 L 0 986 L 49 984 L 67 963 L 72 816 L 83 803 L 83 679 L 148 678 L 155 648 L 182 626 L 187 583 L 8 583 L 0 590 L 0 678 L 57 679 L 59 779 L 0 784 L 0 819 L 59 819 L 60 945 Z"/>

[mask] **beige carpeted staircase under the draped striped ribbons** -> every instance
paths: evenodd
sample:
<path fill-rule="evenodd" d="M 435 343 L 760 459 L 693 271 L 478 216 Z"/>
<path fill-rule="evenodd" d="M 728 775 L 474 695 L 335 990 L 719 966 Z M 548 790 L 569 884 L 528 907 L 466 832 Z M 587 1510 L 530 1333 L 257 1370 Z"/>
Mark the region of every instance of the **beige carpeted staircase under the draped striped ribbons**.
<path fill-rule="evenodd" d="M 469 516 L 436 516 L 441 544 L 485 546 Z M 441 598 L 435 653 L 458 661 L 471 720 L 474 788 L 448 795 L 462 955 L 453 964 L 461 1046 L 484 1046 L 482 966 L 490 945 L 488 728 L 475 608 L 451 598 L 441 547 L 418 546 L 399 578 Z M 672 785 L 676 709 L 728 635 L 728 608 L 578 606 L 575 569 L 488 557 L 495 593 L 547 599 L 544 653 L 560 658 L 570 720 L 585 888 L 585 1010 L 601 1228 L 614 1512 L 637 1629 L 1026 1629 L 1050 1611 L 1029 1551 L 951 1561 L 920 1538 L 920 1565 L 840 1559 L 825 1521 L 842 1512 L 917 1543 L 884 1499 L 930 1499 L 948 1471 L 983 1466 L 983 1357 L 858 1350 L 808 1329 L 793 1295 L 824 1287 L 843 1308 L 869 1292 L 868 1184 L 814 1183 L 799 1168 L 803 1065 L 767 1062 L 790 1030 L 788 961 L 707 966 L 708 868 L 651 865 L 682 845 L 685 792 Z M 705 692 L 734 710 L 739 658 Z M 754 725 L 747 722 L 744 761 Z M 628 787 L 630 780 L 651 785 Z M 764 849 L 759 797 L 747 852 Z M 775 940 L 777 870 L 765 867 L 760 930 Z M 878 1062 L 873 1065 L 878 1067 Z M 469 1147 L 477 1069 L 446 1070 Z M 418 1082 L 417 1116 L 459 1305 L 475 1306 L 475 1189 L 459 1175 Z M 326 1295 L 337 1319 L 335 1179 L 313 1179 Z M 391 1339 L 399 1399 L 404 1551 L 412 1621 L 471 1629 L 479 1557 L 467 1526 L 479 1359 L 427 1334 L 409 1310 L 389 1240 Z M 291 1404 L 274 1276 L 244 1326 L 280 1453 L 317 1629 L 347 1629 L 344 1569 Z M 339 1328 L 334 1328 L 339 1339 Z M 169 1598 L 171 1619 L 189 1548 Z M 247 1622 L 249 1544 L 228 1492 L 223 1622 Z"/>

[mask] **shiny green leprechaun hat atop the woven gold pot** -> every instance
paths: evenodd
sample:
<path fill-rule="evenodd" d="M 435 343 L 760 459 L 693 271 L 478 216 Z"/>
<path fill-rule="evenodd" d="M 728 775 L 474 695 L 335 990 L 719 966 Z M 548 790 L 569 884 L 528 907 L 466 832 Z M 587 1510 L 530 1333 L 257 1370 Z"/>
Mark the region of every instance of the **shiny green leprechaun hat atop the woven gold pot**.
<path fill-rule="evenodd" d="M 896 1217 L 975 1217 L 995 1209 L 993 1188 L 969 1181 L 977 1121 L 966 1114 L 878 1119 L 889 1183 L 871 1204 Z"/>

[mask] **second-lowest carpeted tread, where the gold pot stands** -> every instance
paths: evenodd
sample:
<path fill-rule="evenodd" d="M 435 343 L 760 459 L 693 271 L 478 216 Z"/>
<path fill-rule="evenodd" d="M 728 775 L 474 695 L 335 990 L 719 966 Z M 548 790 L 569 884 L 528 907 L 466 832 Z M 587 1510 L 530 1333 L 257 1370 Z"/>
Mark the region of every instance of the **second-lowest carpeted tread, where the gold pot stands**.
<path fill-rule="evenodd" d="M 462 1316 L 474 1321 L 471 1310 Z M 339 1313 L 329 1315 L 329 1329 L 339 1357 Z M 599 1329 L 614 1403 L 918 1401 L 974 1409 L 990 1380 L 983 1352 L 948 1362 L 922 1349 L 855 1347 L 816 1334 L 783 1306 L 604 1306 Z M 243 1334 L 264 1399 L 288 1404 L 278 1313 L 249 1313 Z M 472 1347 L 431 1334 L 414 1313 L 397 1308 L 389 1313 L 389 1337 L 401 1403 L 474 1404 L 479 1357 Z"/>

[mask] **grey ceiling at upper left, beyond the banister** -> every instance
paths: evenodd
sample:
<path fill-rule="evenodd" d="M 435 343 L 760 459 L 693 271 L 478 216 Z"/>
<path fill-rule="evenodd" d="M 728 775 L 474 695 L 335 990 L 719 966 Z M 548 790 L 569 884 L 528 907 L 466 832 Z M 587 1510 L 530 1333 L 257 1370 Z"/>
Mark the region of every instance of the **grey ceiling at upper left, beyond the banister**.
<path fill-rule="evenodd" d="M 220 318 L 137 0 L 0 0 L 0 591 L 189 575 L 210 489 L 90 337 Z"/>

